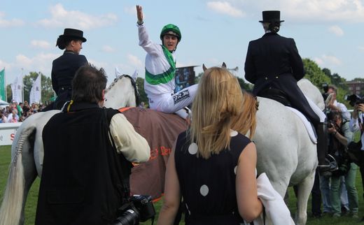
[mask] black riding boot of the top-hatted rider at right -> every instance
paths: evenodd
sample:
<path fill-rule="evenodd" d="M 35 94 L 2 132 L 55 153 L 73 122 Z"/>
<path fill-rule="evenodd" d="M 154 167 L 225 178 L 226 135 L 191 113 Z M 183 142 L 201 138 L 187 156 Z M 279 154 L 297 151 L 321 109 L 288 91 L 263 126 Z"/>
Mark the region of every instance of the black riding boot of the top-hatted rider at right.
<path fill-rule="evenodd" d="M 316 126 L 317 133 L 317 158 L 318 171 L 323 175 L 325 172 L 337 170 L 337 163 L 330 154 L 328 154 L 328 127 L 327 123 L 319 123 Z"/>

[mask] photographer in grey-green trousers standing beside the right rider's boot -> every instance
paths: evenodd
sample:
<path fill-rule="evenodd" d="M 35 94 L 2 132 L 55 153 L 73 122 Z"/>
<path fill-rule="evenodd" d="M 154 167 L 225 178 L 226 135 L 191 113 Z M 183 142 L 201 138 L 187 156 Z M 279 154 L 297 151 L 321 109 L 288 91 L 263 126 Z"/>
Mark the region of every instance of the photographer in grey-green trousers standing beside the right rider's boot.
<path fill-rule="evenodd" d="M 351 163 L 346 146 L 353 139 L 353 132 L 349 128 L 349 120 L 343 120 L 342 114 L 331 111 L 328 114 L 328 133 L 330 138 L 329 154 L 335 157 L 338 170 L 332 172 L 330 202 L 332 207 L 332 217 L 340 217 L 341 200 L 340 200 L 340 182 L 344 176 L 346 190 L 349 198 L 350 215 L 358 218 L 358 191 L 355 187 L 356 164 Z"/>

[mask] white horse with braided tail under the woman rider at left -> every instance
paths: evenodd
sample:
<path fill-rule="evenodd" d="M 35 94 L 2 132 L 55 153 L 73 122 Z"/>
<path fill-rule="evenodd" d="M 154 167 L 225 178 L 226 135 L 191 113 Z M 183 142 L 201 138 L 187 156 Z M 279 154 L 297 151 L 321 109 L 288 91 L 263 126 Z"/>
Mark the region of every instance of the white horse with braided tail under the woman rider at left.
<path fill-rule="evenodd" d="M 106 108 L 137 106 L 137 77 L 121 75 L 106 89 Z M 6 190 L 0 208 L 1 225 L 24 224 L 28 191 L 43 165 L 43 126 L 60 110 L 36 113 L 22 122 L 11 147 L 11 163 Z"/>

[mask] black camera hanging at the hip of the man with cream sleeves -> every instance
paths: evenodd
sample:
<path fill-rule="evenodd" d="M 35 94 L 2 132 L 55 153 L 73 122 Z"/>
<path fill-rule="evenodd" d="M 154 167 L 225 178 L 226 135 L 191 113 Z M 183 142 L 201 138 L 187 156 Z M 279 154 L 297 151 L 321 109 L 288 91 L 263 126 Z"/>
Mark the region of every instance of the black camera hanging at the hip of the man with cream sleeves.
<path fill-rule="evenodd" d="M 130 200 L 129 207 L 122 210 L 122 214 L 112 225 L 135 225 L 154 218 L 155 208 L 152 196 L 134 194 Z"/>

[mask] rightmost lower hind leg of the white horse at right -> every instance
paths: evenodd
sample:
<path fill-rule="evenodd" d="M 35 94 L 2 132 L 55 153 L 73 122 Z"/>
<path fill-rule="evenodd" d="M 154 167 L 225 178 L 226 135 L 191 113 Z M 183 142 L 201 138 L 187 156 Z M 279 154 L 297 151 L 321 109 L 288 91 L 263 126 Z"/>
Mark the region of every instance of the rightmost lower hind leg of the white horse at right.
<path fill-rule="evenodd" d="M 295 215 L 295 222 L 297 225 L 304 225 L 307 221 L 307 202 L 311 189 L 314 187 L 316 170 L 312 172 L 297 185 L 297 212 Z"/>

